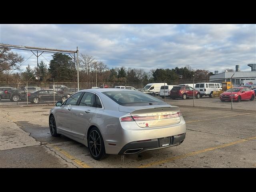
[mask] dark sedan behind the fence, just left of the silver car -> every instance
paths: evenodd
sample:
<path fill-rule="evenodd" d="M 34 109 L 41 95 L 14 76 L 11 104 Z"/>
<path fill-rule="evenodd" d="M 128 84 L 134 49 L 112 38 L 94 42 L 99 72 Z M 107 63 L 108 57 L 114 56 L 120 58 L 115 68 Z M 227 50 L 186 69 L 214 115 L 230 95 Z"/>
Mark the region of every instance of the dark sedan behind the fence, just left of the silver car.
<path fill-rule="evenodd" d="M 54 92 L 53 90 L 39 90 L 32 93 L 28 93 L 28 101 L 38 104 L 39 102 L 44 101 L 66 101 L 67 98 L 69 98 L 69 94 L 60 94 L 57 92 Z"/>

